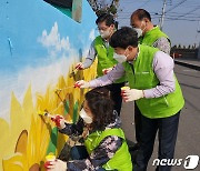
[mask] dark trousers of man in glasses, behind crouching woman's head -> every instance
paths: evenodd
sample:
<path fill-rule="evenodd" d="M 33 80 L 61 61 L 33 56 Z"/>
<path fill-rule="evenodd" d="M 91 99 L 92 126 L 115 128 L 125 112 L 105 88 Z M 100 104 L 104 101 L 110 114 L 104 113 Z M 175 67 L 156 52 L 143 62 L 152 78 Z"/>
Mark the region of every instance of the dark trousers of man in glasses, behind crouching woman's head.
<path fill-rule="evenodd" d="M 106 88 L 109 89 L 110 91 L 110 97 L 112 101 L 114 102 L 114 110 L 118 112 L 118 115 L 120 115 L 120 112 L 121 112 L 121 103 L 122 103 L 121 88 L 122 87 L 124 87 L 124 82 L 112 83 L 112 84 L 106 86 Z"/>

